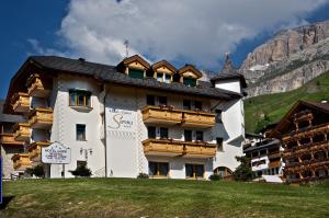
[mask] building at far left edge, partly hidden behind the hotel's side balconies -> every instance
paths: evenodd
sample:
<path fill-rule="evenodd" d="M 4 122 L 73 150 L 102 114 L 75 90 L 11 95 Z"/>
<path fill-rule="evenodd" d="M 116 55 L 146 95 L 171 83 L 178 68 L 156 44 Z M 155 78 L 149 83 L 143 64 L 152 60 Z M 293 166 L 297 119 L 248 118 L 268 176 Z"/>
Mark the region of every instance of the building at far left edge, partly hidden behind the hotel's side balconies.
<path fill-rule="evenodd" d="M 13 176 L 14 168 L 12 164 L 12 158 L 15 153 L 24 152 L 23 141 L 14 139 L 13 127 L 15 123 L 23 123 L 25 119 L 22 116 L 9 115 L 2 113 L 3 101 L 0 101 L 0 156 L 3 162 L 3 179 L 11 179 Z M 31 165 L 31 161 L 29 165 Z M 22 168 L 22 170 L 24 170 Z M 16 171 L 16 174 L 23 173 L 23 171 Z"/>

